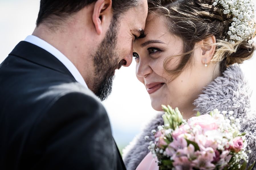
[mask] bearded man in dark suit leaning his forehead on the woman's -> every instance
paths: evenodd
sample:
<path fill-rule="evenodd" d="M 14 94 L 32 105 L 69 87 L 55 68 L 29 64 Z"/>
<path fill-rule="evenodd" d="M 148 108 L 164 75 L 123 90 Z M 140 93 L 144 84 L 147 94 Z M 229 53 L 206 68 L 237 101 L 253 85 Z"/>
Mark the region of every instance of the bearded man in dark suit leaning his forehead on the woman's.
<path fill-rule="evenodd" d="M 147 10 L 146 0 L 40 1 L 33 34 L 0 65 L 1 170 L 125 169 L 98 98 L 131 64 Z"/>

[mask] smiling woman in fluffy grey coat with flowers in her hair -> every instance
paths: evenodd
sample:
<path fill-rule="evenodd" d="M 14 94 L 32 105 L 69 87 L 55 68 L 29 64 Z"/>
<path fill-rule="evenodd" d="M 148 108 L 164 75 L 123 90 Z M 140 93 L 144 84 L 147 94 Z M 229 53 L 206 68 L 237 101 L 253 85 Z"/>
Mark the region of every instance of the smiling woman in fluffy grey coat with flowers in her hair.
<path fill-rule="evenodd" d="M 157 111 L 162 104 L 171 105 L 186 119 L 197 111 L 234 111 L 241 131 L 247 134 L 251 164 L 256 159 L 256 115 L 251 113 L 251 91 L 238 64 L 253 56 L 255 29 L 249 24 L 234 31 L 241 23 L 239 16 L 226 14 L 230 10 L 223 12 L 216 2 L 149 0 L 147 36 L 134 42 L 136 75 Z M 128 170 L 158 169 L 144 137 L 163 124 L 162 114 L 159 112 L 124 150 Z M 152 134 L 149 139 L 154 139 Z"/>

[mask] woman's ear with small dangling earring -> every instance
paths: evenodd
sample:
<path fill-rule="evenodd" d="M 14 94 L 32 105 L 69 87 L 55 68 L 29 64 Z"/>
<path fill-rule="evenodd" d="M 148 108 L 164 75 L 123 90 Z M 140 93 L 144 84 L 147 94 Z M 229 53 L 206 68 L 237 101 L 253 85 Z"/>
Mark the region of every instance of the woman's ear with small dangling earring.
<path fill-rule="evenodd" d="M 202 63 L 205 64 L 205 59 L 207 63 L 211 61 L 216 48 L 216 45 L 212 45 L 212 44 L 215 44 L 215 43 L 216 43 L 216 37 L 214 35 L 206 39 L 203 39 L 202 42 L 200 43 L 202 45 L 201 47 Z"/>

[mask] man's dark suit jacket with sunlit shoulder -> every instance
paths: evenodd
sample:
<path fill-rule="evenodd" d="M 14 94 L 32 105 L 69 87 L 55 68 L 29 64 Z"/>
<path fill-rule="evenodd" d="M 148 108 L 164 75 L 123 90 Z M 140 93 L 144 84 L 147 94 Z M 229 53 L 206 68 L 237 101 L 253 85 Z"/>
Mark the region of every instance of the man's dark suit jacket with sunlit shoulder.
<path fill-rule="evenodd" d="M 25 41 L 0 65 L 0 169 L 125 169 L 97 97 Z"/>

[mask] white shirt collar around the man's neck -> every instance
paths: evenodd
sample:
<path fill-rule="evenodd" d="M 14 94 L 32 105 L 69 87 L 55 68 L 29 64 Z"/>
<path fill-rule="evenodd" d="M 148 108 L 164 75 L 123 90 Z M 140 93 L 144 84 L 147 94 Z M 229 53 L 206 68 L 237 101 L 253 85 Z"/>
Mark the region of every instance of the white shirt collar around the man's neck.
<path fill-rule="evenodd" d="M 82 75 L 79 73 L 75 65 L 54 46 L 34 35 L 28 35 L 24 41 L 30 42 L 31 44 L 39 46 L 40 48 L 43 48 L 44 50 L 51 53 L 58 60 L 60 60 L 60 62 L 62 62 L 65 65 L 65 67 L 67 67 L 67 69 L 73 75 L 77 82 L 85 86 L 85 88 L 88 88 L 87 84 L 85 83 L 85 80 L 83 79 Z"/>

